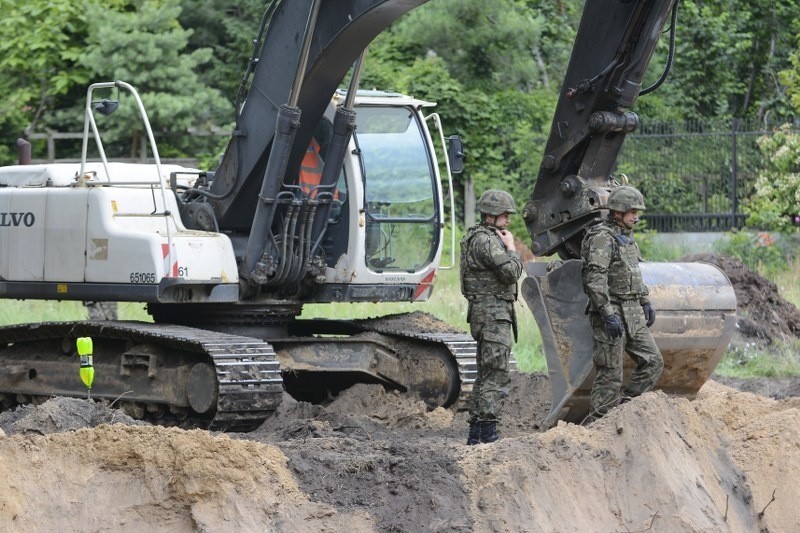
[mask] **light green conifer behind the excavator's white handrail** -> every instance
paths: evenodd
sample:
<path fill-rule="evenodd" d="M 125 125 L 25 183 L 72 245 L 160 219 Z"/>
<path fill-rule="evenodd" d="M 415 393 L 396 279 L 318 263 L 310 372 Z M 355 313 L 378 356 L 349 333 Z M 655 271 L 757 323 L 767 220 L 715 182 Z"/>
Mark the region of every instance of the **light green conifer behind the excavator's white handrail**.
<path fill-rule="evenodd" d="M 184 53 L 192 31 L 178 23 L 180 12 L 179 0 L 134 0 L 125 10 L 95 12 L 78 64 L 93 80 L 123 80 L 136 87 L 154 131 L 166 141 L 159 143 L 164 155 L 197 155 L 186 133 L 224 124 L 232 110 L 219 91 L 198 75 L 210 60 L 211 49 Z M 56 114 L 54 122 L 74 128 L 75 110 Z M 82 123 L 82 114 L 77 116 Z M 138 109 L 121 105 L 113 118 L 103 122 L 106 138 L 132 139 L 130 153 L 136 155 L 144 133 Z"/>

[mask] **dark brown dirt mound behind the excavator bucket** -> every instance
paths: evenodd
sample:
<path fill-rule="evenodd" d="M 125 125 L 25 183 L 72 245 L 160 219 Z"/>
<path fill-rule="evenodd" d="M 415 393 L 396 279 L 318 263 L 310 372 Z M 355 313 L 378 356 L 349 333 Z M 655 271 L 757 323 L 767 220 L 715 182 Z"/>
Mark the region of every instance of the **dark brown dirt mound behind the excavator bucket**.
<path fill-rule="evenodd" d="M 750 270 L 735 257 L 693 254 L 680 261 L 711 263 L 728 276 L 736 293 L 738 332 L 766 342 L 800 337 L 800 311 L 778 292 L 778 287 Z"/>

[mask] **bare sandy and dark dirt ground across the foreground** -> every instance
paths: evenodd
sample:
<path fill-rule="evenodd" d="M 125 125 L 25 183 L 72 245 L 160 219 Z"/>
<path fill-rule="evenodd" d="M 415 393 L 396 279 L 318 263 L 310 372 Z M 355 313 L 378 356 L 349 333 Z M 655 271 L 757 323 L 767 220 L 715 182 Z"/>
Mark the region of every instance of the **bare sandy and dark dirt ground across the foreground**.
<path fill-rule="evenodd" d="M 799 395 L 715 376 L 693 401 L 649 393 L 543 432 L 547 376 L 517 374 L 503 438 L 471 447 L 464 412 L 376 385 L 324 407 L 285 395 L 248 434 L 53 398 L 0 415 L 0 530 L 798 532 Z"/>

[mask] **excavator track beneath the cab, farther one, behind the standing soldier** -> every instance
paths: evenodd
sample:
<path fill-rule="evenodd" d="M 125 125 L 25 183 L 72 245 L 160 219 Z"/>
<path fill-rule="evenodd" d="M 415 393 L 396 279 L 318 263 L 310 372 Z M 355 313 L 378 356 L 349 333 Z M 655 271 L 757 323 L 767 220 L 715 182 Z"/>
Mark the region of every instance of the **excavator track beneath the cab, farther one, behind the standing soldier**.
<path fill-rule="evenodd" d="M 298 319 L 272 340 L 287 391 L 324 402 L 355 383 L 382 383 L 429 408 L 466 400 L 477 375 L 476 343 L 424 312 L 368 319 Z"/>

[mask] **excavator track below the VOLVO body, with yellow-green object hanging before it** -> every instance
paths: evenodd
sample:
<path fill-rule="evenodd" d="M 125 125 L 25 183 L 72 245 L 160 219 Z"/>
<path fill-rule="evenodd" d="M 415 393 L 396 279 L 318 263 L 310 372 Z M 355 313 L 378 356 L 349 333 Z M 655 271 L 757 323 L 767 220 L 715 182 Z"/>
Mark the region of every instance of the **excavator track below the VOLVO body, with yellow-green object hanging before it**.
<path fill-rule="evenodd" d="M 94 341 L 91 391 L 78 378 L 75 339 Z M 251 431 L 279 405 L 280 365 L 261 339 L 144 322 L 59 322 L 0 328 L 4 407 L 50 396 L 119 403 L 134 418 Z"/>

